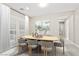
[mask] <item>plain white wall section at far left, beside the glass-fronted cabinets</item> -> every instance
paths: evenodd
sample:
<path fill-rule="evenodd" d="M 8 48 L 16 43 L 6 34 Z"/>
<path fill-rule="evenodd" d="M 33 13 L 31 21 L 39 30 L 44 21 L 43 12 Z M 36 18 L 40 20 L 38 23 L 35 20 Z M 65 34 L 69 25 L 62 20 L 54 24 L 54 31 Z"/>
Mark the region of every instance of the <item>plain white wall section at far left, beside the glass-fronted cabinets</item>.
<path fill-rule="evenodd" d="M 0 4 L 0 21 L 1 21 L 1 37 L 0 37 L 0 43 L 1 43 L 1 51 L 5 51 L 9 49 L 9 20 L 10 20 L 10 8 L 8 8 L 5 5 Z"/>

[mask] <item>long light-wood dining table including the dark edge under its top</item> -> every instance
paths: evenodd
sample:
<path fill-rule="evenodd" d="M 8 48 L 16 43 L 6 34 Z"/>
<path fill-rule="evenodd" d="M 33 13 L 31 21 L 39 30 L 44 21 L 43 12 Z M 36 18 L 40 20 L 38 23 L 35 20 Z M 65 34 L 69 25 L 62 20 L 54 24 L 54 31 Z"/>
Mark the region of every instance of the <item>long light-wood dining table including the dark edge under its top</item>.
<path fill-rule="evenodd" d="M 24 40 L 37 40 L 37 41 L 50 41 L 50 42 L 60 40 L 59 36 L 47 36 L 47 35 L 43 35 L 41 37 L 34 37 L 32 35 L 23 35 L 18 38 L 22 38 Z"/>

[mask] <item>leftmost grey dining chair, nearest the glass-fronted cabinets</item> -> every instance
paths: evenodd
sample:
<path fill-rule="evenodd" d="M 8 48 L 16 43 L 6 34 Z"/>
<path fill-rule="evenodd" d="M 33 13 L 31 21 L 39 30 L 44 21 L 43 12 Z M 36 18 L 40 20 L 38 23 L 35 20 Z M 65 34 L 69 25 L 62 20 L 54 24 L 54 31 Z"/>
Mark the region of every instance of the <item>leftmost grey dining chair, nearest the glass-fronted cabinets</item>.
<path fill-rule="evenodd" d="M 27 48 L 27 40 L 24 38 L 18 39 L 18 53 L 23 52 L 23 48 Z"/>

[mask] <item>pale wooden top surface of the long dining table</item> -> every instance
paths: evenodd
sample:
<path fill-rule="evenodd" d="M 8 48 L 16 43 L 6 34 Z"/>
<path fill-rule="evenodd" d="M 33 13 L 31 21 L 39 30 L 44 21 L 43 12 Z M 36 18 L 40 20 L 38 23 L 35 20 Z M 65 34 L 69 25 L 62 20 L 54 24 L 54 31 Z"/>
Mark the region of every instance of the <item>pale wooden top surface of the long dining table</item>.
<path fill-rule="evenodd" d="M 24 39 L 36 39 L 36 40 L 45 40 L 45 41 L 57 41 L 59 40 L 58 36 L 43 36 L 40 38 L 37 37 L 33 37 L 31 35 L 25 35 L 25 36 L 21 36 L 20 38 L 24 38 Z"/>

